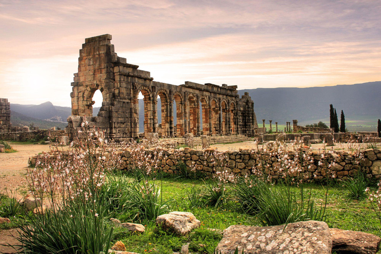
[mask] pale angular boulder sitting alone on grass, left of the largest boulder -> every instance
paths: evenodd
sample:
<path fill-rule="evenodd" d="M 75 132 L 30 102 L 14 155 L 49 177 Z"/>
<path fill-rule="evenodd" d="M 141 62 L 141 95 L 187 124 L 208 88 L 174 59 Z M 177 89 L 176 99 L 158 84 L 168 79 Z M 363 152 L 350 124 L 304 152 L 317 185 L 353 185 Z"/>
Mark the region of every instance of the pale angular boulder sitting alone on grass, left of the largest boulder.
<path fill-rule="evenodd" d="M 190 212 L 170 212 L 156 218 L 156 225 L 165 231 L 187 235 L 200 226 L 200 221 Z"/>

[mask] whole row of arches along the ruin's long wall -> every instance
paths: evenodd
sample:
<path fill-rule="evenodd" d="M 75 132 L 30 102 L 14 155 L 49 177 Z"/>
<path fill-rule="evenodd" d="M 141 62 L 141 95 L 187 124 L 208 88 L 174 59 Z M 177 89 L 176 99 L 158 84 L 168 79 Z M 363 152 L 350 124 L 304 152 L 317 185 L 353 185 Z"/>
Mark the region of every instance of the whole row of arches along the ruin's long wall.
<path fill-rule="evenodd" d="M 150 87 L 140 86 L 133 100 L 132 117 L 135 119 L 139 118 L 139 93 L 143 95 L 144 101 L 144 133 L 159 132 L 162 136 L 184 136 L 186 133 L 195 136 L 239 134 L 237 106 L 233 100 L 227 101 L 188 92 L 172 92 L 163 88 L 152 92 Z M 161 109 L 157 109 L 158 96 L 161 99 Z M 174 104 L 176 104 L 175 109 Z M 157 110 L 161 110 L 161 123 L 157 122 Z M 174 125 L 174 110 L 176 110 L 176 125 Z M 137 135 L 138 125 L 134 127 L 133 132 Z"/>

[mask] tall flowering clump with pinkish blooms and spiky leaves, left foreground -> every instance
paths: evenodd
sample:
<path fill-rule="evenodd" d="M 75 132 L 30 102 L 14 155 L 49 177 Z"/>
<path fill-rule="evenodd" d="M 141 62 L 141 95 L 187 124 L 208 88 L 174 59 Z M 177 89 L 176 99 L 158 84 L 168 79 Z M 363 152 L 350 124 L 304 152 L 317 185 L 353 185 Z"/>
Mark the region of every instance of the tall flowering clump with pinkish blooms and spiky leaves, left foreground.
<path fill-rule="evenodd" d="M 39 213 L 29 215 L 29 224 L 20 227 L 17 239 L 25 253 L 99 254 L 109 250 L 113 228 L 106 220 L 111 202 L 102 188 L 120 157 L 102 132 L 90 131 L 87 122 L 82 127 L 77 147 L 46 153 L 35 168 L 28 169 L 32 194 L 49 200 L 49 207 L 38 207 Z"/>

